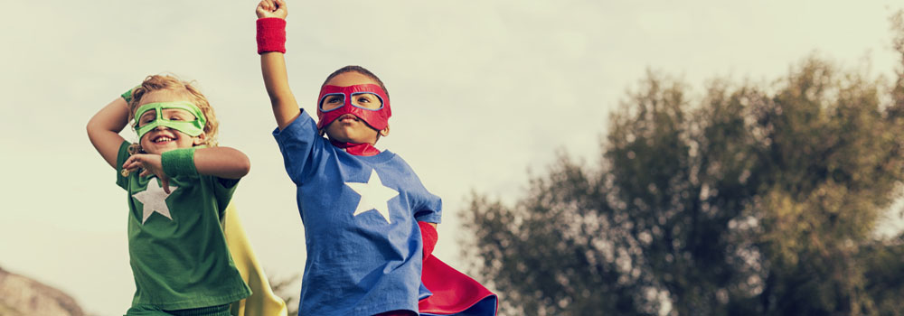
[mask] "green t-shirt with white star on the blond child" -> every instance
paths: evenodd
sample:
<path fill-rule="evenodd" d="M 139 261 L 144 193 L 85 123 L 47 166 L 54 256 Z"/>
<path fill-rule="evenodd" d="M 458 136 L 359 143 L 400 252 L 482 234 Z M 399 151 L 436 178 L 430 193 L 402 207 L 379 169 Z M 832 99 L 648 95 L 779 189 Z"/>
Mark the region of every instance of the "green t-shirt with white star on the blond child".
<path fill-rule="evenodd" d="M 135 276 L 132 306 L 183 310 L 239 301 L 251 293 L 232 262 L 221 218 L 238 180 L 123 177 L 128 142 L 119 147 L 117 184 L 128 192 L 128 254 Z"/>

